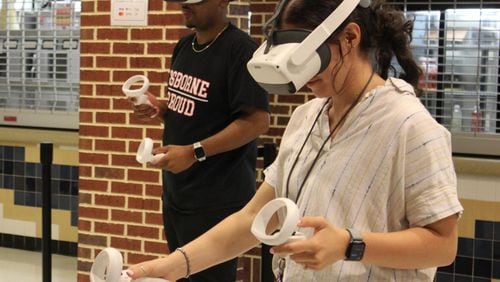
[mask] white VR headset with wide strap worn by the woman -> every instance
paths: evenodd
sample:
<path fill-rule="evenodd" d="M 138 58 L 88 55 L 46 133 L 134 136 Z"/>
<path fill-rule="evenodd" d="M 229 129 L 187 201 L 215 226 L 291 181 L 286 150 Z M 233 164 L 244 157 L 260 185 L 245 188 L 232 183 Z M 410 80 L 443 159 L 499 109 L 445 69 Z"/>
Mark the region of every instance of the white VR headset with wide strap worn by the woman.
<path fill-rule="evenodd" d="M 254 80 L 272 94 L 293 94 L 330 63 L 325 41 L 349 17 L 357 5 L 370 6 L 370 0 L 344 0 L 318 27 L 308 30 L 274 30 L 283 0 L 271 21 L 274 26 L 267 40 L 247 63 Z"/>

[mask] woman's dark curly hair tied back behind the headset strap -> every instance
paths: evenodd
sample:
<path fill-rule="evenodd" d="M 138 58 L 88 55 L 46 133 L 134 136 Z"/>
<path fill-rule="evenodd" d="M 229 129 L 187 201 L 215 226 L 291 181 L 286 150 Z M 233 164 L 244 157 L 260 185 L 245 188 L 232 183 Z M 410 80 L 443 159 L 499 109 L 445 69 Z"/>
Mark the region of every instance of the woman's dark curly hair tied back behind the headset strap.
<path fill-rule="evenodd" d="M 342 0 L 290 0 L 278 20 L 292 24 L 298 28 L 313 30 L 321 24 L 342 2 Z M 413 21 L 407 20 L 401 11 L 387 5 L 384 0 L 372 0 L 370 7 L 361 6 L 340 25 L 329 38 L 333 42 L 338 33 L 348 24 L 354 22 L 361 29 L 360 49 L 366 56 L 374 52 L 377 73 L 384 79 L 394 69 L 391 60 L 395 56 L 403 69 L 400 77 L 417 87 L 418 78 L 422 74 L 410 48 Z"/>

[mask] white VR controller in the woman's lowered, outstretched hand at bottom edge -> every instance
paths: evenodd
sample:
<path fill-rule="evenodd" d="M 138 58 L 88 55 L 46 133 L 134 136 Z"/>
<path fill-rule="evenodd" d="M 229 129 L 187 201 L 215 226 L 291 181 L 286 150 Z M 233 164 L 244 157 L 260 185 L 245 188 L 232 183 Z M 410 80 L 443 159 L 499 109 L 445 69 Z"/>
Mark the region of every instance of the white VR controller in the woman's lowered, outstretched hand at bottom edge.
<path fill-rule="evenodd" d="M 162 278 L 130 278 L 123 270 L 122 254 L 114 248 L 102 250 L 90 269 L 90 282 L 168 282 Z"/>

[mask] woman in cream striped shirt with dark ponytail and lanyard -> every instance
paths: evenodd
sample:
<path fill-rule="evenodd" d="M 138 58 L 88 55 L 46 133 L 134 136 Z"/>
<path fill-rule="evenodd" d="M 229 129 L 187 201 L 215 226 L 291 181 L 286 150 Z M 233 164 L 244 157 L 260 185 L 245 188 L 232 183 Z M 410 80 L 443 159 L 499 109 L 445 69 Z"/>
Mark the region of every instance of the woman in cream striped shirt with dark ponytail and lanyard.
<path fill-rule="evenodd" d="M 282 3 L 278 30 L 311 31 L 342 1 Z M 184 255 L 134 265 L 129 275 L 174 280 L 244 253 L 258 244 L 250 227 L 259 210 L 286 197 L 299 207 L 306 239 L 271 249 L 289 254 L 279 279 L 433 281 L 436 267 L 455 258 L 463 208 L 449 132 L 412 87 L 421 71 L 411 31 L 383 1 L 361 1 L 326 40 L 330 61 L 307 83 L 317 99 L 294 111 L 253 199 Z M 393 56 L 404 80 L 388 78 Z M 279 228 L 275 217 L 268 232 Z"/>

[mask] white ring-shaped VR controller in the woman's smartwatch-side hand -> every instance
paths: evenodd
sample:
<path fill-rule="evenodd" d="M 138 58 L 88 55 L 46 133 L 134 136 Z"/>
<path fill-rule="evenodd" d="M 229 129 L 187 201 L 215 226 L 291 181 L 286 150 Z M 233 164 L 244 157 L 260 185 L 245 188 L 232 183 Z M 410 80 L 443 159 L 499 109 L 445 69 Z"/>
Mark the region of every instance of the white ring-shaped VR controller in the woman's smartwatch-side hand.
<path fill-rule="evenodd" d="M 278 210 L 285 208 L 286 214 L 282 221 L 281 228 L 274 234 L 267 234 L 266 227 Z M 257 213 L 252 223 L 252 234 L 264 244 L 277 246 L 287 242 L 304 240 L 306 236 L 296 232 L 297 223 L 300 219 L 299 208 L 292 200 L 288 198 L 276 198 L 267 203 Z"/>

